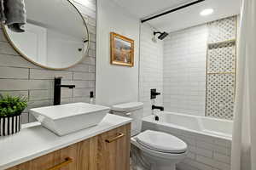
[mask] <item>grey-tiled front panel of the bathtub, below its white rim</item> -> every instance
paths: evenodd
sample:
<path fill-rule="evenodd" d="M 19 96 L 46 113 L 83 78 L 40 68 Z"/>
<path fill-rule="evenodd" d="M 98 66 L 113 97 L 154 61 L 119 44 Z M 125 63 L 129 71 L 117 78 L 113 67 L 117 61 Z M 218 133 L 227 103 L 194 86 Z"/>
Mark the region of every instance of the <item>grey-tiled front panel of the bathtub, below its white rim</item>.
<path fill-rule="evenodd" d="M 177 170 L 230 170 L 230 139 L 143 122 L 146 129 L 171 133 L 188 144 L 188 155 L 177 164 Z"/>

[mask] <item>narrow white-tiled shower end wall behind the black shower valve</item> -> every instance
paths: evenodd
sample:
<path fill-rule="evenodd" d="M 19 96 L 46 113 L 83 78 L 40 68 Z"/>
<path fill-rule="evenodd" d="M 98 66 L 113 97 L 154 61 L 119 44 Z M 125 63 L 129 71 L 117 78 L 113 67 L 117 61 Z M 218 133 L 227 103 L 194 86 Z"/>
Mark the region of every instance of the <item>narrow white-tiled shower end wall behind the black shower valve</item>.
<path fill-rule="evenodd" d="M 155 99 L 155 105 L 163 105 L 163 42 L 153 42 L 153 32 L 152 27 L 141 26 L 139 100 L 144 103 L 144 116 L 151 114 L 151 88 L 161 93 Z"/>

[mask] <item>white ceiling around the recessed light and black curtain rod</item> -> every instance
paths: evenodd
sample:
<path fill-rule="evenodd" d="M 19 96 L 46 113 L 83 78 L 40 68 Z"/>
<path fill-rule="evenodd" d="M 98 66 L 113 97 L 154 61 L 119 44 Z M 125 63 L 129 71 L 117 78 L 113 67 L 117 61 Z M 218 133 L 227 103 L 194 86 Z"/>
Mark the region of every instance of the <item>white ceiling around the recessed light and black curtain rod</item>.
<path fill-rule="evenodd" d="M 127 12 L 139 19 L 145 19 L 153 14 L 160 14 L 168 9 L 177 8 L 193 0 L 113 0 Z M 195 1 L 195 0 L 194 0 Z M 241 0 L 206 0 L 188 8 L 183 8 L 160 18 L 149 20 L 147 23 L 160 31 L 177 31 L 190 26 L 197 26 L 212 20 L 240 13 Z M 201 10 L 213 8 L 214 12 L 208 16 L 201 16 Z"/>

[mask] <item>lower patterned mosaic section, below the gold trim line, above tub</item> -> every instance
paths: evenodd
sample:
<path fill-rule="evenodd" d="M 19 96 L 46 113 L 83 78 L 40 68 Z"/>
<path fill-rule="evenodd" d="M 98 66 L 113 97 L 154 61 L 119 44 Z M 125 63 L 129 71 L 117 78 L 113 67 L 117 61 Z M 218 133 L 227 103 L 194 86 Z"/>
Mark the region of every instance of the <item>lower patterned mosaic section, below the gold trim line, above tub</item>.
<path fill-rule="evenodd" d="M 208 75 L 207 116 L 233 119 L 235 74 Z"/>

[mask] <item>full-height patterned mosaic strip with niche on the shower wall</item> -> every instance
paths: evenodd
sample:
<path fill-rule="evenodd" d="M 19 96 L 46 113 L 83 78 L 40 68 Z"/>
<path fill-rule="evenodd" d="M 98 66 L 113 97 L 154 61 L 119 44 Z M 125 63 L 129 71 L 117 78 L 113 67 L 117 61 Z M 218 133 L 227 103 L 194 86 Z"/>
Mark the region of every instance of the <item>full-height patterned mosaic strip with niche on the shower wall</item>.
<path fill-rule="evenodd" d="M 236 92 L 236 16 L 208 23 L 206 116 L 233 119 Z"/>

